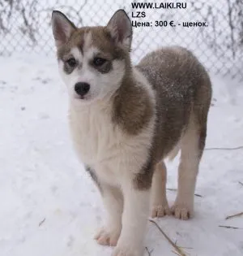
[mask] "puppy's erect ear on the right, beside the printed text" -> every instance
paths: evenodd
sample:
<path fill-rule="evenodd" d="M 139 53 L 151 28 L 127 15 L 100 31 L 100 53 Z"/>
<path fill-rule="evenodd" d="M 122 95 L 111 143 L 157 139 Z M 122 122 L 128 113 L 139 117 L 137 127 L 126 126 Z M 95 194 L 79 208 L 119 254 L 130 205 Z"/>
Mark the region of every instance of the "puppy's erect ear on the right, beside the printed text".
<path fill-rule="evenodd" d="M 116 43 L 121 43 L 123 46 L 126 46 L 130 50 L 130 45 L 132 41 L 132 24 L 126 11 L 120 9 L 114 13 L 112 18 L 107 24 L 113 40 Z"/>

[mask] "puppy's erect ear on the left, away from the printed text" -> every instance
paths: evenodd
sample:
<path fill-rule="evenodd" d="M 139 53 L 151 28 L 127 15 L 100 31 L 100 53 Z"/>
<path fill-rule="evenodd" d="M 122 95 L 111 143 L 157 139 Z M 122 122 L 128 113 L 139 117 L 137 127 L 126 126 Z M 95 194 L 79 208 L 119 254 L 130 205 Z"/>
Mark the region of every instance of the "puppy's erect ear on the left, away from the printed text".
<path fill-rule="evenodd" d="M 75 25 L 61 11 L 53 11 L 52 27 L 57 47 L 65 44 L 76 29 Z"/>

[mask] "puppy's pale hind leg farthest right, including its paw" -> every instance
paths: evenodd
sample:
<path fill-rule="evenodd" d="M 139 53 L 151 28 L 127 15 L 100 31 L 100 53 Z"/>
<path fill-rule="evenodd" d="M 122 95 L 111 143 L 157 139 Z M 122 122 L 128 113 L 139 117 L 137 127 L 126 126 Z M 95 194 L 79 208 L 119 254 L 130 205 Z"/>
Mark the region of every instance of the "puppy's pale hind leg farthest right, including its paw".
<path fill-rule="evenodd" d="M 190 122 L 181 141 L 177 199 L 171 209 L 178 219 L 189 219 L 193 215 L 194 190 L 205 139 L 206 125 L 199 128 L 197 124 Z"/>

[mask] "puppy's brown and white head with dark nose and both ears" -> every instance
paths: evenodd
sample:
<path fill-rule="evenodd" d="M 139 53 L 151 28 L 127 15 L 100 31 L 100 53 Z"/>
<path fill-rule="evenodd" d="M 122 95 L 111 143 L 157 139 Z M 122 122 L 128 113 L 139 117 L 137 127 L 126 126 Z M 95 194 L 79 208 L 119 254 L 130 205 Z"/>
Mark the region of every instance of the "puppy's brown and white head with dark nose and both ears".
<path fill-rule="evenodd" d="M 76 28 L 53 11 L 52 28 L 70 97 L 92 102 L 115 93 L 130 68 L 132 26 L 126 12 L 118 10 L 105 27 Z"/>

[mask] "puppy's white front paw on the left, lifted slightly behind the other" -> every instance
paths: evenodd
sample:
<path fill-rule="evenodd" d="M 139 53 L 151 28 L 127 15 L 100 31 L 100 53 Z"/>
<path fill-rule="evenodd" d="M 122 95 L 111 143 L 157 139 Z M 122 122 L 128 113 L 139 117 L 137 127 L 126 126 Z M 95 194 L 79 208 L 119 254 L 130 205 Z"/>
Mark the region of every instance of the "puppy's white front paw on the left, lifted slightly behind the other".
<path fill-rule="evenodd" d="M 100 228 L 94 238 L 100 245 L 116 246 L 119 236 L 120 230 L 118 228 L 113 231 L 109 228 Z"/>

